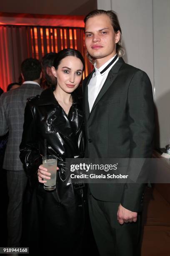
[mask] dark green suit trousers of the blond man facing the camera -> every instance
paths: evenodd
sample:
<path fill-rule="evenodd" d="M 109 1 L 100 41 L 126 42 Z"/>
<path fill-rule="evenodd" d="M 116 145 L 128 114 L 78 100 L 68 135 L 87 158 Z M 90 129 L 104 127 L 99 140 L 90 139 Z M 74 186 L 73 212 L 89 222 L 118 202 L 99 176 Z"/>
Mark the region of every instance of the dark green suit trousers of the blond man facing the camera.
<path fill-rule="evenodd" d="M 89 195 L 89 213 L 100 256 L 140 256 L 141 216 L 136 223 L 120 225 L 120 202 L 105 202 Z"/>

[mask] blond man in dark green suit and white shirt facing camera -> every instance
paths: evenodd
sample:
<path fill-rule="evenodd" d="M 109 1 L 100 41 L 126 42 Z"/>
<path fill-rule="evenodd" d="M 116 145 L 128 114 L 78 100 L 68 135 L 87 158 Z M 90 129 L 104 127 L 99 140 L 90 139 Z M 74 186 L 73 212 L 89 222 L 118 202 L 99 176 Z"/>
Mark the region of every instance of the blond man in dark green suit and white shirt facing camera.
<path fill-rule="evenodd" d="M 122 59 L 113 11 L 85 17 L 85 45 L 95 69 L 84 80 L 87 158 L 150 158 L 154 103 L 145 72 Z M 128 165 L 127 173 L 132 172 Z M 133 172 L 139 172 L 137 166 Z M 140 172 L 138 173 L 140 176 Z M 100 255 L 137 256 L 144 184 L 89 184 L 89 212 Z"/>

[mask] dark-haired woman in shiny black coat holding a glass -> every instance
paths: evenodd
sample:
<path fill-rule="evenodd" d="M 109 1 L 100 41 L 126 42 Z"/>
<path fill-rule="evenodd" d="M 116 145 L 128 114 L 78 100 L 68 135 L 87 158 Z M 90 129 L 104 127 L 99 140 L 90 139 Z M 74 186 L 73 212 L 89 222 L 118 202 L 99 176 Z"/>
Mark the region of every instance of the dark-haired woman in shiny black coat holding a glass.
<path fill-rule="evenodd" d="M 83 157 L 83 116 L 75 89 L 79 86 L 85 64 L 79 51 L 64 49 L 57 54 L 52 73 L 56 87 L 30 99 L 25 108 L 20 159 L 25 165 L 33 192 L 27 205 L 29 224 L 25 240 L 46 255 L 81 255 L 84 207 L 82 189 L 66 184 L 65 158 Z M 40 166 L 45 155 L 58 159 L 56 190 L 46 191 L 43 178 L 50 179 Z M 35 248 L 33 253 L 35 254 Z M 37 252 L 36 252 L 37 253 Z M 57 254 L 58 253 L 58 254 Z M 62 253 L 62 254 L 61 254 Z"/>

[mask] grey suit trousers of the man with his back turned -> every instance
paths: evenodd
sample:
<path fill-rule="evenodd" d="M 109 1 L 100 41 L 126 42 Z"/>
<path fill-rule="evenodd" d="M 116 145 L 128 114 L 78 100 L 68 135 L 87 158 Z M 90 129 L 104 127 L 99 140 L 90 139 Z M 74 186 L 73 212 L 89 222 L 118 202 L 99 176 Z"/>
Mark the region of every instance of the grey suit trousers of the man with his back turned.
<path fill-rule="evenodd" d="M 22 236 L 23 196 L 27 184 L 24 171 L 7 171 L 9 205 L 7 208 L 7 246 L 18 247 Z"/>

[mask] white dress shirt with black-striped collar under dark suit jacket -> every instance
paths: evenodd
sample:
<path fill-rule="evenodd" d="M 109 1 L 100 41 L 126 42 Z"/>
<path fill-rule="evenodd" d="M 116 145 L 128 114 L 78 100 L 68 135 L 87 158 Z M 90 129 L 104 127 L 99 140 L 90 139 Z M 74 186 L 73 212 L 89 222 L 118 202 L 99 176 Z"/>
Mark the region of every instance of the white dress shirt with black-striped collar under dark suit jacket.
<path fill-rule="evenodd" d="M 116 56 L 116 54 L 115 54 Z M 105 83 L 105 80 L 107 78 L 107 75 L 110 71 L 110 69 L 115 65 L 115 63 L 118 61 L 119 57 L 117 56 L 117 59 L 113 62 L 113 64 L 102 74 L 100 72 L 105 69 L 105 67 L 112 61 L 112 59 L 115 58 L 113 56 L 109 61 L 107 61 L 105 64 L 103 64 L 99 69 L 97 69 L 96 64 L 94 64 L 95 72 L 92 75 L 92 78 L 90 79 L 90 82 L 88 84 L 88 102 L 89 102 L 89 109 L 90 112 L 92 110 L 92 106 L 95 102 L 95 99 L 97 98 L 97 95 L 99 94 L 100 90 L 102 89 L 103 84 Z"/>

